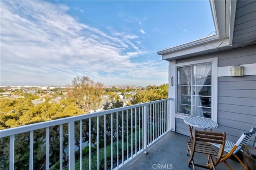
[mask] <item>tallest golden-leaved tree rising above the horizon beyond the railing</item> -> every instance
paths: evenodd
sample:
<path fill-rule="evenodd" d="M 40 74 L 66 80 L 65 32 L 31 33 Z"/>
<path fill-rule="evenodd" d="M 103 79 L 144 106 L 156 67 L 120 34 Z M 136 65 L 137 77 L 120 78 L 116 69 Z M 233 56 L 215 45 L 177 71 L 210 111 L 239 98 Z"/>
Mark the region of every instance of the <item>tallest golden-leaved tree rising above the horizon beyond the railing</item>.
<path fill-rule="evenodd" d="M 69 96 L 76 99 L 76 105 L 84 113 L 95 110 L 101 102 L 103 84 L 94 82 L 89 77 L 76 77 L 72 81 L 73 88 L 69 91 Z"/>

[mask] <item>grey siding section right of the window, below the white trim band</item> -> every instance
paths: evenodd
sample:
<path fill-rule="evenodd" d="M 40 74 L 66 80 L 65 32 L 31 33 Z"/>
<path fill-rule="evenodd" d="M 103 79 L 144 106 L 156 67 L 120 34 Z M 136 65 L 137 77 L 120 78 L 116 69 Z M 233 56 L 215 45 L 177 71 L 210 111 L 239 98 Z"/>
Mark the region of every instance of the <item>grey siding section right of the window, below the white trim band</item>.
<path fill-rule="evenodd" d="M 231 141 L 256 127 L 256 75 L 218 77 L 218 124 Z"/>

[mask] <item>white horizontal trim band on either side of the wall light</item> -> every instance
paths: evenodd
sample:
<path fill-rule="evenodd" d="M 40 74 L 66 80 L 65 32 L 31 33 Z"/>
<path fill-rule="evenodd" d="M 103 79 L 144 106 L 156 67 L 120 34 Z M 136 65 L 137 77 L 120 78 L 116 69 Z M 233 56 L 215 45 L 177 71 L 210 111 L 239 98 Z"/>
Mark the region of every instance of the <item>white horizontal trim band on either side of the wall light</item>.
<path fill-rule="evenodd" d="M 244 76 L 256 75 L 256 63 L 241 64 L 244 66 Z M 218 77 L 230 76 L 230 68 L 232 66 L 218 67 Z"/>

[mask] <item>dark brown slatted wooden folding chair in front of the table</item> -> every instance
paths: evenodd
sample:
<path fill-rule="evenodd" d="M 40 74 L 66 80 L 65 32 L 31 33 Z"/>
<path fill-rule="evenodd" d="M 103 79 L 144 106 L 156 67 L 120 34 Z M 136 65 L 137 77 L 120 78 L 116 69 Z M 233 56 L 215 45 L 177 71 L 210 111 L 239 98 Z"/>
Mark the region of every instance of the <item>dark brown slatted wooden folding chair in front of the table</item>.
<path fill-rule="evenodd" d="M 226 140 L 225 132 L 222 132 L 222 133 L 205 132 L 205 131 L 197 131 L 195 129 L 193 142 L 187 141 L 187 145 L 190 151 L 188 166 L 192 164 L 194 170 L 195 170 L 195 166 L 215 170 L 215 166 L 219 163 L 220 159 L 222 158 L 222 154 L 225 146 L 225 140 Z M 220 144 L 220 149 L 218 150 L 218 152 L 211 147 L 210 143 Z M 194 163 L 195 152 L 208 155 L 208 160 L 205 165 Z M 212 156 L 216 156 L 216 158 L 213 159 Z M 209 164 L 209 161 L 210 161 L 210 164 Z"/>

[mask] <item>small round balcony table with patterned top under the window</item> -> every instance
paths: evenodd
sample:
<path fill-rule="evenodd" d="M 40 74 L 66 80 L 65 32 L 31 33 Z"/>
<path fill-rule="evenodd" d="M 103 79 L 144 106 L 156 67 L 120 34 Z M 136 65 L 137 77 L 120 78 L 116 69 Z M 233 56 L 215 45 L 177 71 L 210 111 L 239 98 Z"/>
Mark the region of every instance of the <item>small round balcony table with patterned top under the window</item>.
<path fill-rule="evenodd" d="M 189 125 L 189 130 L 190 130 L 190 138 L 189 140 L 193 140 L 193 127 L 196 128 L 203 128 L 204 131 L 206 131 L 206 129 L 210 129 L 212 132 L 212 129 L 218 128 L 218 123 L 212 121 L 209 118 L 203 118 L 203 117 L 195 117 L 195 116 L 188 116 L 186 118 L 183 119 L 183 121 Z"/>

